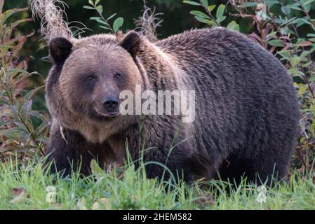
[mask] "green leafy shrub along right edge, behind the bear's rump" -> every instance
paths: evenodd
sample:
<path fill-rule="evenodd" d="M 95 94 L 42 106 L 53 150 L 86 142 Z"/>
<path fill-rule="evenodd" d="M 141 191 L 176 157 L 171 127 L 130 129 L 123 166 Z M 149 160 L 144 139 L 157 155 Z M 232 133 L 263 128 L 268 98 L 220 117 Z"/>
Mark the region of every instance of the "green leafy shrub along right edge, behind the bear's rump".
<path fill-rule="evenodd" d="M 183 1 L 206 10 L 190 13 L 196 20 L 212 27 L 223 26 L 227 18 L 224 5 L 208 5 L 208 0 Z M 296 147 L 293 167 L 305 169 L 314 160 L 315 154 L 315 18 L 309 14 L 314 0 L 262 0 L 233 1 L 229 3 L 229 18 L 250 18 L 253 29 L 249 38 L 272 52 L 286 66 L 295 80 L 301 103 L 300 138 Z M 213 10 L 216 13 L 213 15 Z M 280 10 L 279 10 L 280 9 Z M 232 20 L 228 29 L 239 31 L 239 25 Z M 241 27 L 242 28 L 242 27 Z M 302 163 L 302 164 L 301 164 Z"/>

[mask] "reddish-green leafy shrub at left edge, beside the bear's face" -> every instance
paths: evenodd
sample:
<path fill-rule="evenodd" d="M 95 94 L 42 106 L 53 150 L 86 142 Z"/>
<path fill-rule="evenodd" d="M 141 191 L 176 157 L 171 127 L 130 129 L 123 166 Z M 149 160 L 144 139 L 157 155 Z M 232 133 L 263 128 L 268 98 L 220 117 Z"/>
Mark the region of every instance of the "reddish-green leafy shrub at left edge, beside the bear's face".
<path fill-rule="evenodd" d="M 20 23 L 30 19 L 17 20 L 11 25 L 6 23 L 10 16 L 27 8 L 2 12 L 3 5 L 4 0 L 0 0 L 0 159 L 6 161 L 11 155 L 25 159 L 43 154 L 48 116 L 32 110 L 32 97 L 42 86 L 25 90 L 27 78 L 35 73 L 26 71 L 29 58 L 18 57 L 22 45 L 32 34 L 13 35 Z M 40 119 L 41 125 L 34 127 L 34 118 Z"/>

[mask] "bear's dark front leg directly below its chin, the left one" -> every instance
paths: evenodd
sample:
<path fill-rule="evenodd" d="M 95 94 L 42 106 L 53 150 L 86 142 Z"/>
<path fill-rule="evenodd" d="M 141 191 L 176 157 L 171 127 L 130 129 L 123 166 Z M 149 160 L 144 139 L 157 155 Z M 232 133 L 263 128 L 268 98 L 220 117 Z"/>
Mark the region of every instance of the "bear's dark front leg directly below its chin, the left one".
<path fill-rule="evenodd" d="M 99 148 L 102 147 L 88 143 L 79 132 L 53 125 L 46 152 L 48 162 L 53 160 L 51 173 L 58 171 L 67 176 L 74 170 L 83 175 L 90 174 L 91 160 L 95 159 L 103 165 L 102 156 L 98 155 Z"/>

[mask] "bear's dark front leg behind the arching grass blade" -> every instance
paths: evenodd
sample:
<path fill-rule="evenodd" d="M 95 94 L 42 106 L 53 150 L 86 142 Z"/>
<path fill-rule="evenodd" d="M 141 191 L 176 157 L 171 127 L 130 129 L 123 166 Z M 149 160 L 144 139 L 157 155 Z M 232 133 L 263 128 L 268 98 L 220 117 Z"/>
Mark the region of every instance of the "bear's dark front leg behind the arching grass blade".
<path fill-rule="evenodd" d="M 189 140 L 180 144 L 180 141 L 185 139 L 180 135 L 172 145 L 173 133 L 163 132 L 160 136 L 162 141 L 158 141 L 153 125 L 145 126 L 145 133 L 142 138 L 138 137 L 137 129 L 127 133 L 128 148 L 135 167 L 144 165 L 148 179 L 192 182 L 196 165 L 192 162 L 192 145 Z"/>

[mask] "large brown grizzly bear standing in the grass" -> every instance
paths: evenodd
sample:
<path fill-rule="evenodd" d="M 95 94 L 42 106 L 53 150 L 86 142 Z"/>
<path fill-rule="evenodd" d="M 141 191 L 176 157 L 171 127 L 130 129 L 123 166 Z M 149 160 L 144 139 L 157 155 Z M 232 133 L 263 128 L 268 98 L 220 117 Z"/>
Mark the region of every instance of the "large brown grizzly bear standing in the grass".
<path fill-rule="evenodd" d="M 262 182 L 286 176 L 299 110 L 293 80 L 267 50 L 223 28 L 150 42 L 135 31 L 53 38 L 46 80 L 52 172 L 123 165 L 148 178 Z M 195 90 L 195 119 L 121 115 L 119 93 Z M 167 169 L 166 169 L 167 167 Z"/>

